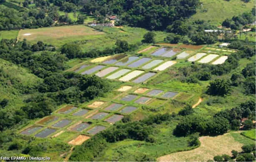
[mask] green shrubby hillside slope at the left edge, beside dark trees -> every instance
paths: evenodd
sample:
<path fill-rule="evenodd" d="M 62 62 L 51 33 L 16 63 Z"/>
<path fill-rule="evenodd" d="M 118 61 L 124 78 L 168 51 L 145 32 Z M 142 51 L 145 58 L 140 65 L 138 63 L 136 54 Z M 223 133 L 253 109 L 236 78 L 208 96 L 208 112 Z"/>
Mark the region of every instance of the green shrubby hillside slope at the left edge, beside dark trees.
<path fill-rule="evenodd" d="M 23 106 L 22 100 L 26 96 L 25 93 L 40 80 L 34 74 L 30 74 L 27 69 L 0 59 L 0 101 L 4 98 L 8 99 L 9 102 L 6 106 L 8 109 L 18 105 Z"/>

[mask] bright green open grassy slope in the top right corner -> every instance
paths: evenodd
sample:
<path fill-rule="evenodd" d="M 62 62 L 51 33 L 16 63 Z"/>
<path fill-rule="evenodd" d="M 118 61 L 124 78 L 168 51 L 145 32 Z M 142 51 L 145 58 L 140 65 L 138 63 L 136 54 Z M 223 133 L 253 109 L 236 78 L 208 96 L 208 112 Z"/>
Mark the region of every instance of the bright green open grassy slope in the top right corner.
<path fill-rule="evenodd" d="M 190 20 L 205 20 L 214 25 L 221 26 L 226 18 L 251 11 L 255 7 L 255 0 L 248 3 L 242 0 L 200 0 L 202 7 L 197 9 L 197 13 Z"/>

